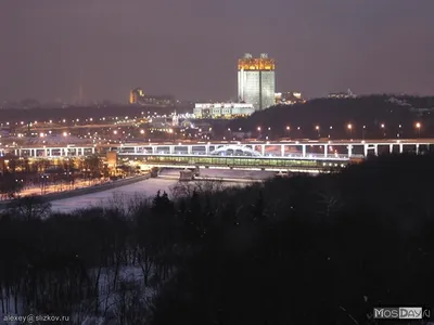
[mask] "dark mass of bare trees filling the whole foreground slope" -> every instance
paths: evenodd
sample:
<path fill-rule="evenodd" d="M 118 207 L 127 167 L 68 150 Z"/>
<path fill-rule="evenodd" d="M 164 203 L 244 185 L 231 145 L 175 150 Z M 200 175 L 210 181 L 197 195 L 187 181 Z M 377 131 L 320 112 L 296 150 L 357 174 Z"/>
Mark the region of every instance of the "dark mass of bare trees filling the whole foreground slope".
<path fill-rule="evenodd" d="M 1 312 L 361 325 L 375 324 L 376 306 L 434 307 L 432 166 L 386 156 L 177 200 L 158 193 L 128 212 L 11 209 L 0 220 Z"/>

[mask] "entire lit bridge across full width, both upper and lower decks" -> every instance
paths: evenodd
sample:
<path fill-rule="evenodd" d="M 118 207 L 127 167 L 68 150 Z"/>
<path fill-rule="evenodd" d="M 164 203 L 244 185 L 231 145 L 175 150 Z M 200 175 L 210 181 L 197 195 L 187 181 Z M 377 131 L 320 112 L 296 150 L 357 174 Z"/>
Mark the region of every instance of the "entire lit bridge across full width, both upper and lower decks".
<path fill-rule="evenodd" d="M 183 142 L 130 143 L 119 145 L 66 145 L 0 147 L 28 158 L 84 157 L 117 152 L 120 157 L 142 159 L 155 166 L 216 166 L 240 168 L 323 168 L 341 166 L 354 158 L 381 153 L 431 151 L 434 139 L 418 140 L 334 140 L 277 142 Z"/>

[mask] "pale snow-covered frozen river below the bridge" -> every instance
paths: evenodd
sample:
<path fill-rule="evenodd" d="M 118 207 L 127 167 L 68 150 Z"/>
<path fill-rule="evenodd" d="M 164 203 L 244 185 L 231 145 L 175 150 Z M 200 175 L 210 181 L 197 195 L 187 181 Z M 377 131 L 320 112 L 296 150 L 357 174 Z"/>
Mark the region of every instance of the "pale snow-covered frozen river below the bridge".
<path fill-rule="evenodd" d="M 166 176 L 179 176 L 179 170 L 165 170 L 162 174 Z M 213 177 L 213 178 L 234 178 L 234 179 L 266 179 L 272 177 L 275 173 L 264 171 L 235 171 L 235 170 L 201 170 L 201 176 Z M 59 199 L 51 202 L 52 210 L 59 212 L 72 212 L 76 209 L 84 209 L 89 207 L 101 207 L 111 205 L 113 202 L 119 203 L 119 200 L 127 202 L 129 198 L 135 197 L 152 197 L 158 191 L 170 194 L 170 187 L 178 181 L 171 179 L 149 179 L 145 181 L 137 182 L 133 184 L 103 191 L 81 196 L 75 196 L 65 199 Z M 235 185 L 227 183 L 227 185 Z M 240 184 L 237 184 L 240 185 Z"/>

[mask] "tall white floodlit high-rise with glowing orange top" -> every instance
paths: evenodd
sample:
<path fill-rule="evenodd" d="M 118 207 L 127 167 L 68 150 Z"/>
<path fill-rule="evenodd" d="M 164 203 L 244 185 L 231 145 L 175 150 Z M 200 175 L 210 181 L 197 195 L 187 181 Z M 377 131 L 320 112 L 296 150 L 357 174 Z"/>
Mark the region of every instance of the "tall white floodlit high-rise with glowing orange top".
<path fill-rule="evenodd" d="M 238 61 L 238 98 L 240 102 L 253 104 L 255 110 L 275 105 L 276 62 L 268 54 L 253 57 L 246 53 Z"/>

